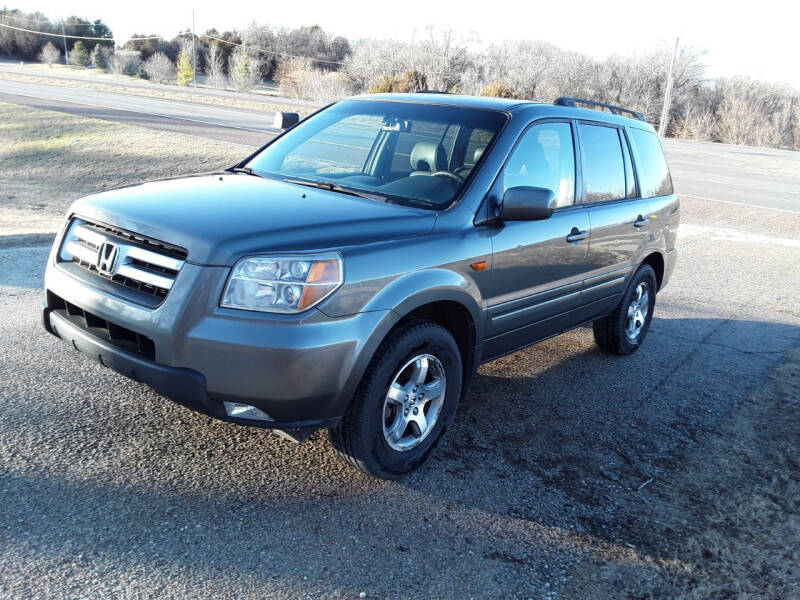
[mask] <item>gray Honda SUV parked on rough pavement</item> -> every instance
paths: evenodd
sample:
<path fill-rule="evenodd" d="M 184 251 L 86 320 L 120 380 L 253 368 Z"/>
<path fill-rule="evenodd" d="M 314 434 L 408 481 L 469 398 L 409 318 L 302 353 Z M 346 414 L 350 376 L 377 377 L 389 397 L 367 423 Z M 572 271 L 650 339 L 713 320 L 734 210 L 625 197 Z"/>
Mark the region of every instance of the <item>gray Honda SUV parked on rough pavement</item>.
<path fill-rule="evenodd" d="M 213 417 L 296 441 L 327 428 L 393 478 L 481 363 L 589 322 L 602 351 L 638 349 L 678 217 L 632 111 L 357 97 L 226 171 L 75 202 L 44 326 Z"/>

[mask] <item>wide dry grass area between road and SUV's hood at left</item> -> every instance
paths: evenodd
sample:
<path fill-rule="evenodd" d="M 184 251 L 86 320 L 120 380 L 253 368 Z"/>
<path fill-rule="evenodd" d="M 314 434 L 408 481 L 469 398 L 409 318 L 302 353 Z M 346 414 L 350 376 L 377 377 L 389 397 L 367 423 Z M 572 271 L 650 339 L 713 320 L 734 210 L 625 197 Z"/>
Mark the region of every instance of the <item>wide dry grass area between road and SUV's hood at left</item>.
<path fill-rule="evenodd" d="M 239 144 L 0 103 L 0 240 L 56 231 L 64 212 L 81 196 L 224 168 L 251 151 Z"/>

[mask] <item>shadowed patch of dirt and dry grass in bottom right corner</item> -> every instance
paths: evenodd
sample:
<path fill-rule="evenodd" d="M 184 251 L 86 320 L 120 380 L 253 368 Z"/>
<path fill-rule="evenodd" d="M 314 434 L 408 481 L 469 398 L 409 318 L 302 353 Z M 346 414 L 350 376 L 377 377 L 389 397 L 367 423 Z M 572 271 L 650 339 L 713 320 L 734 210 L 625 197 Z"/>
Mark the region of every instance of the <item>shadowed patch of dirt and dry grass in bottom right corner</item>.
<path fill-rule="evenodd" d="M 800 351 L 716 435 L 639 491 L 644 503 L 566 597 L 800 597 Z M 621 591 L 624 590 L 624 594 Z"/>

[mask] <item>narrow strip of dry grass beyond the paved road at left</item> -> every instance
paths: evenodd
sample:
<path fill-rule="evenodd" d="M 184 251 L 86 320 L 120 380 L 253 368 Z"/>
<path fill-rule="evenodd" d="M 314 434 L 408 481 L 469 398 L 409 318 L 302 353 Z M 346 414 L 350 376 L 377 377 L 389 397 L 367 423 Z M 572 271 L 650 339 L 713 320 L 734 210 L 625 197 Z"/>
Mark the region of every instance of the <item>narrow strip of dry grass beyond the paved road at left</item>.
<path fill-rule="evenodd" d="M 67 68 L 67 67 L 63 67 Z M 130 94 L 133 96 L 146 96 L 148 98 L 161 98 L 164 100 L 177 100 L 183 102 L 192 102 L 194 104 L 206 104 L 211 106 L 224 106 L 226 108 L 241 108 L 244 110 L 254 110 L 265 113 L 274 113 L 278 111 L 292 111 L 299 113 L 301 117 L 311 114 L 316 108 L 306 105 L 294 104 L 277 104 L 269 101 L 269 96 L 265 95 L 264 101 L 232 98 L 230 96 L 213 96 L 199 93 L 187 94 L 174 89 L 169 86 L 164 86 L 157 83 L 149 83 L 143 79 L 136 79 L 137 83 L 148 84 L 148 87 L 125 85 L 132 81 L 130 77 L 125 75 L 111 75 L 108 73 L 97 73 L 93 69 L 80 69 L 73 67 L 77 72 L 74 74 L 87 76 L 87 74 L 96 73 L 97 82 L 81 81 L 76 79 L 57 79 L 52 75 L 58 75 L 58 71 L 42 70 L 42 76 L 27 75 L 22 73 L 9 73 L 0 71 L 0 79 L 9 79 L 12 81 L 27 81 L 30 83 L 42 83 L 47 85 L 57 85 L 61 87 L 72 87 L 89 90 L 98 90 L 101 92 L 115 92 L 118 94 Z M 48 75 L 50 75 L 48 77 Z M 150 87 L 152 86 L 152 87 Z"/>

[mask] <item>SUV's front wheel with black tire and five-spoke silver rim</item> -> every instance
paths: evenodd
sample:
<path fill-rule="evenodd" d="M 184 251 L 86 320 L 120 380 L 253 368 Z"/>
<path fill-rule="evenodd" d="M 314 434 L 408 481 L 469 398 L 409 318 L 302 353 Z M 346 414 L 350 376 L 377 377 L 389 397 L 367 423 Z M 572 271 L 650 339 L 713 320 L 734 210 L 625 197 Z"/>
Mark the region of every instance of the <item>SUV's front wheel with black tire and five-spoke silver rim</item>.
<path fill-rule="evenodd" d="M 430 321 L 394 329 L 367 367 L 329 438 L 347 464 L 381 479 L 419 467 L 455 416 L 461 354 L 453 336 Z"/>

